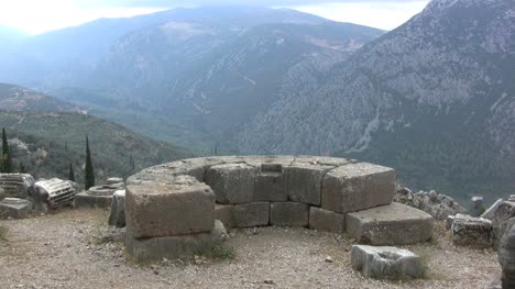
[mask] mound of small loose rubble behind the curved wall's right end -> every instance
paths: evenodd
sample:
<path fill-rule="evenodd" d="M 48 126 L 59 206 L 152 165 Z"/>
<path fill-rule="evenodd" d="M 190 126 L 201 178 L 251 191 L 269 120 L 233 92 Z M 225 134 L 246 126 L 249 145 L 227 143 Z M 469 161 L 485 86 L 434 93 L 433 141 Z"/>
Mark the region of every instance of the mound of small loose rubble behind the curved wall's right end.
<path fill-rule="evenodd" d="M 449 196 L 431 191 L 412 192 L 408 188 L 396 187 L 394 201 L 425 211 L 436 220 L 446 220 L 449 215 L 467 213 L 454 199 Z"/>

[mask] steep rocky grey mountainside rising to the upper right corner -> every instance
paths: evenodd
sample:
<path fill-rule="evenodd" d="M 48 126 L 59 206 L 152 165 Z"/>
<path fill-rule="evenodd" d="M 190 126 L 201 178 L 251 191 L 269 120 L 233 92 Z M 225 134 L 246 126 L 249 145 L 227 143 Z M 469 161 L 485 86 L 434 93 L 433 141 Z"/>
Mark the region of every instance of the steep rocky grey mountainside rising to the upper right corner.
<path fill-rule="evenodd" d="M 462 198 L 513 192 L 514 52 L 513 1 L 434 0 L 313 93 L 284 93 L 239 148 L 351 155 Z"/>

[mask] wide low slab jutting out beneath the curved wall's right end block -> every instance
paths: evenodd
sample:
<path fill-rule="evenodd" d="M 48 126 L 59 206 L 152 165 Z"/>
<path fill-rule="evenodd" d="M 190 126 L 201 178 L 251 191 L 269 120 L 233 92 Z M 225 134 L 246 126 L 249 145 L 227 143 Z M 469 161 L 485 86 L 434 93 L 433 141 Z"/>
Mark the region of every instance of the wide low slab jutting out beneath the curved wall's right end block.
<path fill-rule="evenodd" d="M 408 245 L 432 236 L 434 219 L 415 208 L 393 202 L 346 216 L 347 233 L 374 246 Z"/>

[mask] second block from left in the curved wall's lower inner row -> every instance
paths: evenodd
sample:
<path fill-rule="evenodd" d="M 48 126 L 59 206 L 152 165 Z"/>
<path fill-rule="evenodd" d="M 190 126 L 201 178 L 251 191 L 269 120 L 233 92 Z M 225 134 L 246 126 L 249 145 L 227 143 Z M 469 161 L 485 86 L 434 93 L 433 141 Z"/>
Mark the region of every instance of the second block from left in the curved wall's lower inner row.
<path fill-rule="evenodd" d="M 235 227 L 269 225 L 270 202 L 252 202 L 235 204 L 232 209 L 232 220 Z"/>

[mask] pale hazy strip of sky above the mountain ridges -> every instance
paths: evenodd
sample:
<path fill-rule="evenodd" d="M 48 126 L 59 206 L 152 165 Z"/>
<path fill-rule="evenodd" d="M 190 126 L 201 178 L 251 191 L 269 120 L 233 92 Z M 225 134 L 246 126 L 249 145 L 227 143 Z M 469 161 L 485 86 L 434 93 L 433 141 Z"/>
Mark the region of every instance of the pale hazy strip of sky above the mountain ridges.
<path fill-rule="evenodd" d="M 0 0 L 0 24 L 37 34 L 98 18 L 145 14 L 177 7 L 213 4 L 288 7 L 336 21 L 392 30 L 429 0 Z"/>

